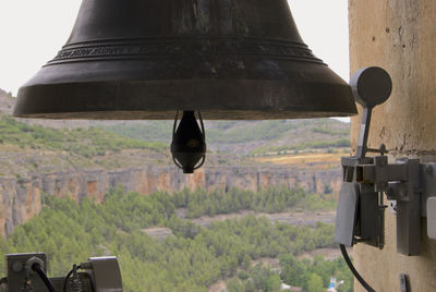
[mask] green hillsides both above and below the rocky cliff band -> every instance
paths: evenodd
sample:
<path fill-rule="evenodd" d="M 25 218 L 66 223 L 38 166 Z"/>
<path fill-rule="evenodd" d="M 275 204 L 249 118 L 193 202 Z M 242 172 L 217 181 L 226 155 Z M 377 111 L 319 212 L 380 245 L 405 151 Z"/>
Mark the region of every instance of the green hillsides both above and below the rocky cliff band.
<path fill-rule="evenodd" d="M 0 175 L 15 175 L 17 183 L 51 171 L 171 163 L 171 121 L 21 120 L 9 114 L 13 102 L 10 95 L 0 98 Z M 258 163 L 253 155 L 303 148 L 327 151 L 349 145 L 349 125 L 330 119 L 207 121 L 206 131 L 210 165 Z M 16 227 L 8 239 L 0 238 L 0 258 L 7 253 L 45 252 L 51 275 L 62 276 L 89 256 L 116 255 L 126 292 L 207 291 L 217 281 L 226 282 L 230 292 L 278 291 L 281 282 L 322 291 L 331 276 L 346 280 L 340 291 L 352 291 L 343 260 L 296 259 L 305 252 L 335 247 L 332 226 L 271 223 L 259 217 L 295 209 L 331 211 L 334 195 L 270 188 L 143 196 L 118 188 L 106 195 L 104 204 L 86 197 L 77 204 L 46 194 L 41 199 L 39 215 Z M 244 211 L 255 215 L 215 221 L 207 228 L 191 221 Z M 153 228 L 171 234 L 147 235 Z M 276 260 L 281 273 L 254 264 L 264 258 Z"/>

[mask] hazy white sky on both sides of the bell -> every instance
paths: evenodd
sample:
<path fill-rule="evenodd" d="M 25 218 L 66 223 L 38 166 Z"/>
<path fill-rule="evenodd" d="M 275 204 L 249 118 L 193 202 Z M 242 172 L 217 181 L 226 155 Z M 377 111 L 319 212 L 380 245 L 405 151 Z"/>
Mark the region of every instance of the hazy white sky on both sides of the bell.
<path fill-rule="evenodd" d="M 81 0 L 0 0 L 0 88 L 16 94 L 56 56 L 70 35 L 80 3 Z M 289 3 L 304 41 L 348 81 L 348 0 Z"/>

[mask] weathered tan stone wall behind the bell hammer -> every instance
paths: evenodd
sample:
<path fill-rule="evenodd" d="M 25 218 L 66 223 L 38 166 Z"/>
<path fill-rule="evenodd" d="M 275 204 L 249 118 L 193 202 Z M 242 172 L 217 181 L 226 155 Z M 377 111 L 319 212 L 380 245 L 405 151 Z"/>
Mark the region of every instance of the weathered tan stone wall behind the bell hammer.
<path fill-rule="evenodd" d="M 374 110 L 370 146 L 385 143 L 393 156 L 436 155 L 436 1 L 349 0 L 351 71 L 385 68 L 393 81 L 390 99 Z M 360 117 L 352 120 L 355 149 Z M 399 275 L 408 273 L 412 291 L 436 291 L 436 242 L 423 221 L 422 255 L 396 252 L 396 217 L 386 212 L 386 247 L 358 244 L 356 269 L 377 292 L 400 291 Z M 356 282 L 355 291 L 364 291 Z"/>

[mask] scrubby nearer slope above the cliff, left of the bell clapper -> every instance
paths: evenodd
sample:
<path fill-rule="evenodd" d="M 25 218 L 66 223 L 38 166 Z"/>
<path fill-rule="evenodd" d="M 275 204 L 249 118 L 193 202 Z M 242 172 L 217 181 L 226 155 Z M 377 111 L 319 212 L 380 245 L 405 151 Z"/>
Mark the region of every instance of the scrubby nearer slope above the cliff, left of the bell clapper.
<path fill-rule="evenodd" d="M 0 115 L 0 175 L 16 178 L 76 168 L 170 163 L 169 145 L 128 138 L 98 127 L 53 129 Z"/>

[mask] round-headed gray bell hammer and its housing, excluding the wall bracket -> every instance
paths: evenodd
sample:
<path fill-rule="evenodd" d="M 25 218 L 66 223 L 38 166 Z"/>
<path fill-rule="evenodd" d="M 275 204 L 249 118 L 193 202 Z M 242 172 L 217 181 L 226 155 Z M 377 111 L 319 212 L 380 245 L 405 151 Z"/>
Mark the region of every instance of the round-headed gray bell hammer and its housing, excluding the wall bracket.
<path fill-rule="evenodd" d="M 361 69 L 351 78 L 355 100 L 362 105 L 356 156 L 342 157 L 343 183 L 337 207 L 335 241 L 347 246 L 358 242 L 383 248 L 385 224 L 383 194 L 375 185 L 360 180 L 359 166 L 387 163 L 386 149 L 367 147 L 372 110 L 385 102 L 392 90 L 389 74 L 376 66 Z M 367 153 L 379 153 L 380 158 L 366 157 Z"/>

